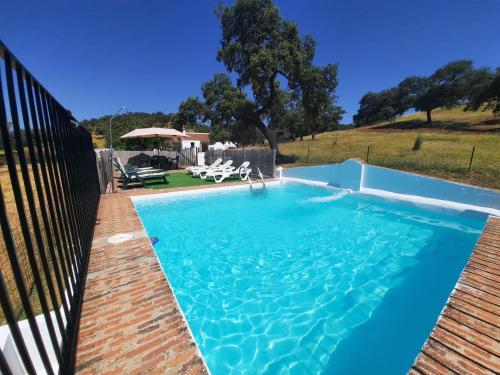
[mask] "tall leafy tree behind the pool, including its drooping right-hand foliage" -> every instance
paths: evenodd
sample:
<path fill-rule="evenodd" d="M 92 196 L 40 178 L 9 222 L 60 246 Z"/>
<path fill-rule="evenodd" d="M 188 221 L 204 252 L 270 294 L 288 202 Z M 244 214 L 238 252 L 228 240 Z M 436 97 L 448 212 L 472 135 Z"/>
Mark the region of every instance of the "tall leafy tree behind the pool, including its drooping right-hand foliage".
<path fill-rule="evenodd" d="M 278 148 L 277 129 L 268 125 L 284 83 L 284 91 L 301 101 L 314 133 L 320 116 L 336 99 L 337 66 L 314 66 L 316 41 L 301 37 L 297 25 L 284 20 L 271 0 L 237 0 L 232 6 L 219 6 L 216 14 L 222 28 L 217 59 L 236 73 L 240 91 L 248 87 L 253 94 L 253 101 L 242 103 L 240 112 L 247 124 L 256 127 L 271 148 Z"/>

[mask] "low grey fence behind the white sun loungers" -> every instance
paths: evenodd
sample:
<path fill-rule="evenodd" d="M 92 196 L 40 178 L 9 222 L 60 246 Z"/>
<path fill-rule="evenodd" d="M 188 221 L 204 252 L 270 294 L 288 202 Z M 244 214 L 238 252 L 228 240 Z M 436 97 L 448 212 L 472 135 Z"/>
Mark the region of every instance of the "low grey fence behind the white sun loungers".
<path fill-rule="evenodd" d="M 274 177 L 274 167 L 276 163 L 276 150 L 271 149 L 237 149 L 237 150 L 208 150 L 205 153 L 205 164 L 213 163 L 217 158 L 222 158 L 225 162 L 232 160 L 233 165 L 239 167 L 243 162 L 250 162 L 252 173 L 257 172 L 257 168 L 264 177 Z"/>

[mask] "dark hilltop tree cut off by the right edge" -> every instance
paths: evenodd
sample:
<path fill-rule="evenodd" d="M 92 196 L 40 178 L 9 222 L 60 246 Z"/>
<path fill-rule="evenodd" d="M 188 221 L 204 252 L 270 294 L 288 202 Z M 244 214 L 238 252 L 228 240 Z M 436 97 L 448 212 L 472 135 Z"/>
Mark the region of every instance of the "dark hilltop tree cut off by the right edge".
<path fill-rule="evenodd" d="M 487 69 L 477 72 L 471 82 L 471 93 L 465 106 L 466 111 L 491 109 L 500 114 L 500 67 L 493 73 Z"/>

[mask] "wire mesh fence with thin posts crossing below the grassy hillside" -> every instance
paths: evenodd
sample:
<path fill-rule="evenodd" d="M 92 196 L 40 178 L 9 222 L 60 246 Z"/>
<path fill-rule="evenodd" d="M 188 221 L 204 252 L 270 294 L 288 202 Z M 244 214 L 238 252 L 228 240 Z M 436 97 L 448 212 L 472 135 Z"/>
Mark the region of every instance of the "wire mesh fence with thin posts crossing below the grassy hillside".
<path fill-rule="evenodd" d="M 322 140 L 283 149 L 295 165 L 340 163 L 356 158 L 382 167 L 500 188 L 500 152 L 492 151 L 491 147 L 461 142 L 451 147 L 438 138 L 432 144 L 426 140 L 422 148 L 414 150 L 412 144 L 390 142 L 389 139 L 384 144 Z"/>

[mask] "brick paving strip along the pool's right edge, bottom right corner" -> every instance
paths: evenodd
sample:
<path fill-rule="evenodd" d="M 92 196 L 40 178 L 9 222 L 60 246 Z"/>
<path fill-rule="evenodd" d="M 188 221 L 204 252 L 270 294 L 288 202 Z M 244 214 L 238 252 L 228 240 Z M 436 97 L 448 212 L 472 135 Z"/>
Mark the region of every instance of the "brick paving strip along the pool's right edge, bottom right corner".
<path fill-rule="evenodd" d="M 500 373 L 500 218 L 488 220 L 409 373 Z"/>

